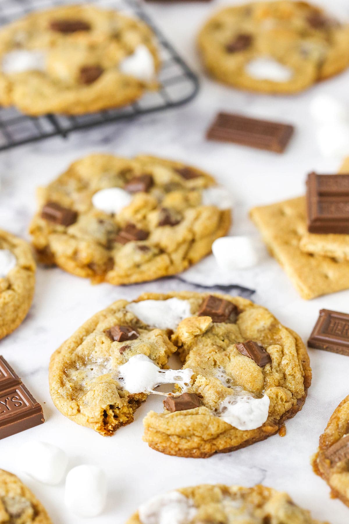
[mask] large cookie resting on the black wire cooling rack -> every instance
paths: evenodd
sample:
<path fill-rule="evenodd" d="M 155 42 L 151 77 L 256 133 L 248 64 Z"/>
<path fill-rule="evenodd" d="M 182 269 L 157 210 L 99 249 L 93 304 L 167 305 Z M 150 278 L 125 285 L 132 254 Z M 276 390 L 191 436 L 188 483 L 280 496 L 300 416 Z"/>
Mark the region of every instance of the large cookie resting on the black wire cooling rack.
<path fill-rule="evenodd" d="M 130 70 L 123 61 L 139 49 L 139 71 L 131 74 L 134 63 Z M 154 87 L 142 78 L 144 60 L 155 77 L 155 37 L 141 20 L 92 5 L 30 13 L 0 31 L 0 103 L 30 115 L 126 105 Z"/>

